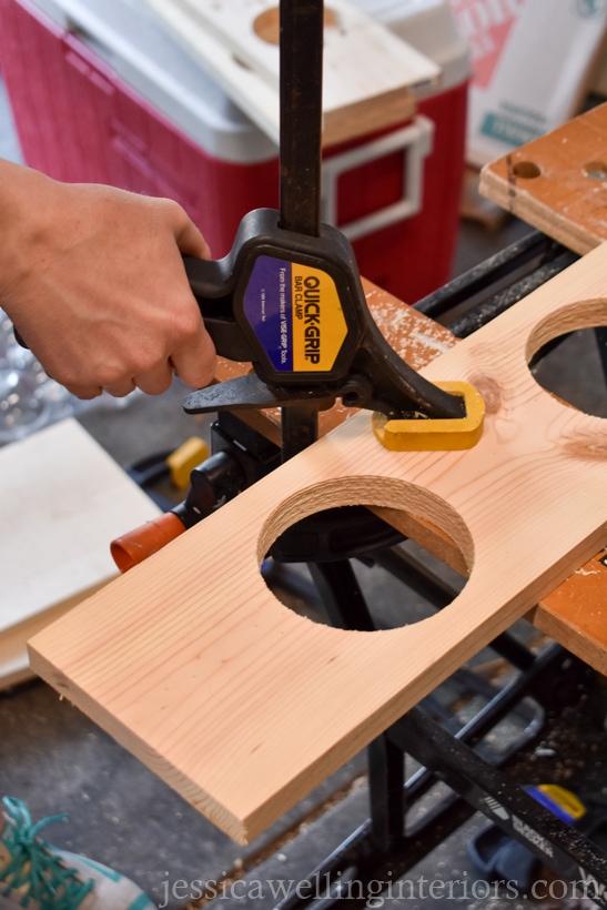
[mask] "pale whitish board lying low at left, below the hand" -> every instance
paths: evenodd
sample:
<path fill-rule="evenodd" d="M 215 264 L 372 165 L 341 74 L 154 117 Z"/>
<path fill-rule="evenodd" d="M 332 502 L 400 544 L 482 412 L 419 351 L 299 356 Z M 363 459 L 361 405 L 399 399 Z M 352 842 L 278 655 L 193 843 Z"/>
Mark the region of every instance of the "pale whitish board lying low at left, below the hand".
<path fill-rule="evenodd" d="M 159 508 L 72 419 L 0 448 L 0 687 L 28 676 L 26 641 L 118 575 L 109 542 Z"/>

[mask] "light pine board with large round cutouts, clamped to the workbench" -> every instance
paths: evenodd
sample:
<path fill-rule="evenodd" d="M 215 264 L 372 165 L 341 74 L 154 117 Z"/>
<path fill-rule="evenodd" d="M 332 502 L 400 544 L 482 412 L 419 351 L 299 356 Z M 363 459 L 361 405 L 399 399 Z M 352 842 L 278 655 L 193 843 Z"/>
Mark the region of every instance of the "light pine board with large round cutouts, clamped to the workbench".
<path fill-rule="evenodd" d="M 527 361 L 607 324 L 589 253 L 422 372 L 485 397 L 468 452 L 391 453 L 360 413 L 30 643 L 32 667 L 239 841 L 281 817 L 605 543 L 605 422 L 542 390 Z M 390 631 L 297 617 L 259 573 L 294 520 L 402 508 L 456 542 L 471 577 Z"/>

